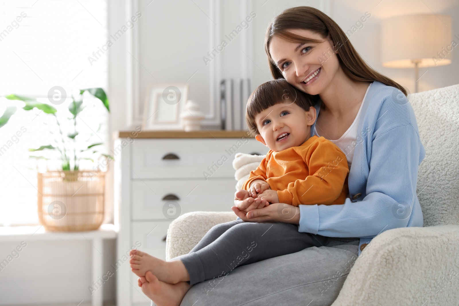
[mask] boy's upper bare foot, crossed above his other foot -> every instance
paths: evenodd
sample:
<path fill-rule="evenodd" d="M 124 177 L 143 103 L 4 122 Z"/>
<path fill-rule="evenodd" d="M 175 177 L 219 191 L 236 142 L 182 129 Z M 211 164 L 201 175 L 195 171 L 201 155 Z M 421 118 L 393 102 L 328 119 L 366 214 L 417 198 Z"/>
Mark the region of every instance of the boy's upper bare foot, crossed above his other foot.
<path fill-rule="evenodd" d="M 132 272 L 139 277 L 145 276 L 147 271 L 151 271 L 160 281 L 168 284 L 190 280 L 190 275 L 180 260 L 163 261 L 140 250 L 131 250 L 130 255 L 129 263 Z"/>

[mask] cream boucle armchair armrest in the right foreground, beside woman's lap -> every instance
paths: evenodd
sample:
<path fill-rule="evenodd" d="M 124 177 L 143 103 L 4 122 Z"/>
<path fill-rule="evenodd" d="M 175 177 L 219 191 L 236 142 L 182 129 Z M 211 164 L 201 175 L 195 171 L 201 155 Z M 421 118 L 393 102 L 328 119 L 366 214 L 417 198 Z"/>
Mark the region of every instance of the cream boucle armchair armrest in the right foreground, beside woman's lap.
<path fill-rule="evenodd" d="M 456 306 L 458 254 L 458 225 L 387 230 L 364 248 L 332 306 Z"/>

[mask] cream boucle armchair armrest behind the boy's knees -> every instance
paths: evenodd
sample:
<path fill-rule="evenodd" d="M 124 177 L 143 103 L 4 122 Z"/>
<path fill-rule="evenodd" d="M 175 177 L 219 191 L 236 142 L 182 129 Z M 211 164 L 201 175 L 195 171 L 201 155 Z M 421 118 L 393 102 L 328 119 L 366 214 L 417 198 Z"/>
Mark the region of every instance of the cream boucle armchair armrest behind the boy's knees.
<path fill-rule="evenodd" d="M 168 228 L 166 260 L 188 254 L 214 225 L 236 218 L 233 211 L 193 211 L 178 217 Z"/>

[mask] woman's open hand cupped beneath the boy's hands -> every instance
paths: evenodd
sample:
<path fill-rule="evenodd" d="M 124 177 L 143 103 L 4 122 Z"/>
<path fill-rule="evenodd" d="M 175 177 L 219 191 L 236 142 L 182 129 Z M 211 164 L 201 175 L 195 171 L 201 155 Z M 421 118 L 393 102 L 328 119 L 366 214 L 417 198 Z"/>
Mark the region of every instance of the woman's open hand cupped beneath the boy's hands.
<path fill-rule="evenodd" d="M 285 203 L 271 204 L 263 208 L 252 209 L 247 213 L 236 206 L 231 209 L 245 222 L 300 224 L 300 208 Z"/>

